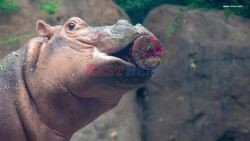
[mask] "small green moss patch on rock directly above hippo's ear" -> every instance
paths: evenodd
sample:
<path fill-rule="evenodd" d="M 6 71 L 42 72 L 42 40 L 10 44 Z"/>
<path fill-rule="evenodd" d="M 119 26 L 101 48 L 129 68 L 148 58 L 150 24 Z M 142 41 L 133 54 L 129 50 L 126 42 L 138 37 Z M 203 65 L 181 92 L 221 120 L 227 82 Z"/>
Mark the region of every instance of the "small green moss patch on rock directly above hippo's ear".
<path fill-rule="evenodd" d="M 47 2 L 40 3 L 40 9 L 49 15 L 56 13 L 58 6 L 61 4 L 62 0 L 51 0 Z"/>

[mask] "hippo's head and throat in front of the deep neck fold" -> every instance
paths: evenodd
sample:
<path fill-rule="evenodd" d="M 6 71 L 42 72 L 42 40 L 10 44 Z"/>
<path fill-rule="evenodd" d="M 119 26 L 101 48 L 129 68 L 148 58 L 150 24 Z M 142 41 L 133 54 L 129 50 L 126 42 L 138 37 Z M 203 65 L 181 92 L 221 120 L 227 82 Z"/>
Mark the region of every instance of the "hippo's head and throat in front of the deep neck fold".
<path fill-rule="evenodd" d="M 77 17 L 59 26 L 40 20 L 37 31 L 40 37 L 28 44 L 27 87 L 40 117 L 68 134 L 116 105 L 125 92 L 150 78 L 152 67 L 146 68 L 148 63 L 143 61 L 136 64 L 135 58 L 144 60 L 149 55 L 148 62 L 154 62 L 151 65 L 156 67 L 159 63 L 159 56 L 155 56 L 159 47 L 146 56 L 134 53 L 140 52 L 140 45 L 144 46 L 143 40 L 137 45 L 133 45 L 134 41 L 146 35 L 153 37 L 153 42 L 156 38 L 142 25 L 133 26 L 126 20 L 102 27 L 89 26 Z M 132 46 L 137 48 L 131 50 Z M 142 50 L 148 50 L 148 46 L 144 47 Z M 98 105 L 100 102 L 102 105 Z M 79 124 L 78 120 L 83 122 Z"/>

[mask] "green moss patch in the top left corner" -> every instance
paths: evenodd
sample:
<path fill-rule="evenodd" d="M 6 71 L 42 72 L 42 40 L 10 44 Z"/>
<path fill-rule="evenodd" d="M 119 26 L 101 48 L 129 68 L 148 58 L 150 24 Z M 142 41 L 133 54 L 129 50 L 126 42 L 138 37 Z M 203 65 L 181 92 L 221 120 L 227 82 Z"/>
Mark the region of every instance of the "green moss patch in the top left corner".
<path fill-rule="evenodd" d="M 10 13 L 17 10 L 17 8 L 15 0 L 0 0 L 0 13 Z"/>

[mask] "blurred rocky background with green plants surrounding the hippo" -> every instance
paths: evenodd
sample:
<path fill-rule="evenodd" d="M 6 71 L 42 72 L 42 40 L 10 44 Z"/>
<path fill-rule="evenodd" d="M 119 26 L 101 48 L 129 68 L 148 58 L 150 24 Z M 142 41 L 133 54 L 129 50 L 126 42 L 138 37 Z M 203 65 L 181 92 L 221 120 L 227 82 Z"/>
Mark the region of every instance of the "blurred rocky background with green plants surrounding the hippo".
<path fill-rule="evenodd" d="M 38 19 L 56 25 L 78 16 L 107 25 L 130 17 L 160 39 L 162 65 L 71 141 L 250 141 L 249 6 L 249 0 L 0 0 L 0 58 L 36 36 Z"/>

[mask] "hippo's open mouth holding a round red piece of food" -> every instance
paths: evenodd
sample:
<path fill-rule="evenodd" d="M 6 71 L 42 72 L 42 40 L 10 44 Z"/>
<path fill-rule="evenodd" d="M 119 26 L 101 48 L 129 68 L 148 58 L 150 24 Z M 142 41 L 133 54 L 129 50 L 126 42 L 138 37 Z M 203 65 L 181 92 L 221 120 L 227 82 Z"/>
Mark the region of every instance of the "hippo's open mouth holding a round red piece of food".
<path fill-rule="evenodd" d="M 143 70 L 153 70 L 160 65 L 163 48 L 154 35 L 143 35 L 121 51 L 111 54 L 111 56 L 135 64 Z"/>

